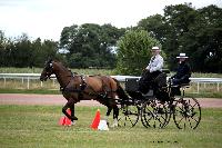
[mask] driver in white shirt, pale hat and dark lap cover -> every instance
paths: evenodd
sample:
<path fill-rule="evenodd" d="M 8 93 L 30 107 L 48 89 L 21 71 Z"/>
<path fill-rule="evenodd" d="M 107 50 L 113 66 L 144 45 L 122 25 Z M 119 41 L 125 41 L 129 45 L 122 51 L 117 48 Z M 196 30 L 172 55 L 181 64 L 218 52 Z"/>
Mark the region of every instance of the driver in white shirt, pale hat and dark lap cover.
<path fill-rule="evenodd" d="M 150 87 L 153 87 L 153 80 L 161 73 L 163 68 L 163 58 L 160 56 L 160 48 L 152 48 L 152 57 L 148 67 L 144 69 L 142 77 L 139 81 L 139 91 L 147 93 Z M 154 88 L 153 88 L 154 89 Z"/>

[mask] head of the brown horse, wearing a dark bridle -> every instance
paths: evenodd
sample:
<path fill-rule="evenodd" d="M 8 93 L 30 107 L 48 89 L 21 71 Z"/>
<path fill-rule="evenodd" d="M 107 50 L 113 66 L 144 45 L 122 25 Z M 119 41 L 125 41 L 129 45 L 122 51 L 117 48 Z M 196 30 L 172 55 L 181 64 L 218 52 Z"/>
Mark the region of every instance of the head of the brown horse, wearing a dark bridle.
<path fill-rule="evenodd" d="M 41 72 L 40 80 L 46 81 L 53 73 L 53 60 L 50 59 L 46 62 L 46 66 Z"/>

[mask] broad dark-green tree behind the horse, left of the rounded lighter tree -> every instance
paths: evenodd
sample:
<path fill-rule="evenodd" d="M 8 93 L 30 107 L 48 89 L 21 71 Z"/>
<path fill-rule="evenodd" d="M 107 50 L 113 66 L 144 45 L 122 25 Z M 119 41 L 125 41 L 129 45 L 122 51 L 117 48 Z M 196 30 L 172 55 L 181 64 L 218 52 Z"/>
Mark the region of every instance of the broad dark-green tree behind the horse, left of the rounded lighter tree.
<path fill-rule="evenodd" d="M 112 49 L 122 34 L 122 30 L 111 24 L 73 24 L 63 28 L 60 47 L 70 51 L 67 56 L 70 67 L 114 67 Z"/>

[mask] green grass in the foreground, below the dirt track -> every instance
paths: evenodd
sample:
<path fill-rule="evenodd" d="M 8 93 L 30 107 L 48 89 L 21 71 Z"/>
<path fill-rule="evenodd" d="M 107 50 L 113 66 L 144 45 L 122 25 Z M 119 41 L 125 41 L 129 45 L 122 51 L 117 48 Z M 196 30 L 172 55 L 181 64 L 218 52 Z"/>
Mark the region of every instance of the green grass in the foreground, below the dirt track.
<path fill-rule="evenodd" d="M 58 125 L 60 106 L 0 106 L 0 147 L 80 147 L 80 148 L 221 148 L 222 109 L 202 109 L 195 130 L 121 127 L 109 131 L 90 129 L 98 108 L 77 107 L 78 122 L 72 127 Z M 105 108 L 100 107 L 101 116 Z"/>

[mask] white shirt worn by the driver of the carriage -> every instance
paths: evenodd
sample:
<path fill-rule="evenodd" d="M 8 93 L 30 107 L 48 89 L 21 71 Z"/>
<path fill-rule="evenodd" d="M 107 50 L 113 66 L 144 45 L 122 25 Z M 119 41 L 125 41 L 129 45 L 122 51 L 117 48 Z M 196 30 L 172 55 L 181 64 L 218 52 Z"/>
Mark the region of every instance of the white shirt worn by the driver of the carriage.
<path fill-rule="evenodd" d="M 145 69 L 150 70 L 150 72 L 154 72 L 154 71 L 162 71 L 162 68 L 163 68 L 163 58 L 160 55 L 157 55 L 151 58 L 150 63 Z"/>

